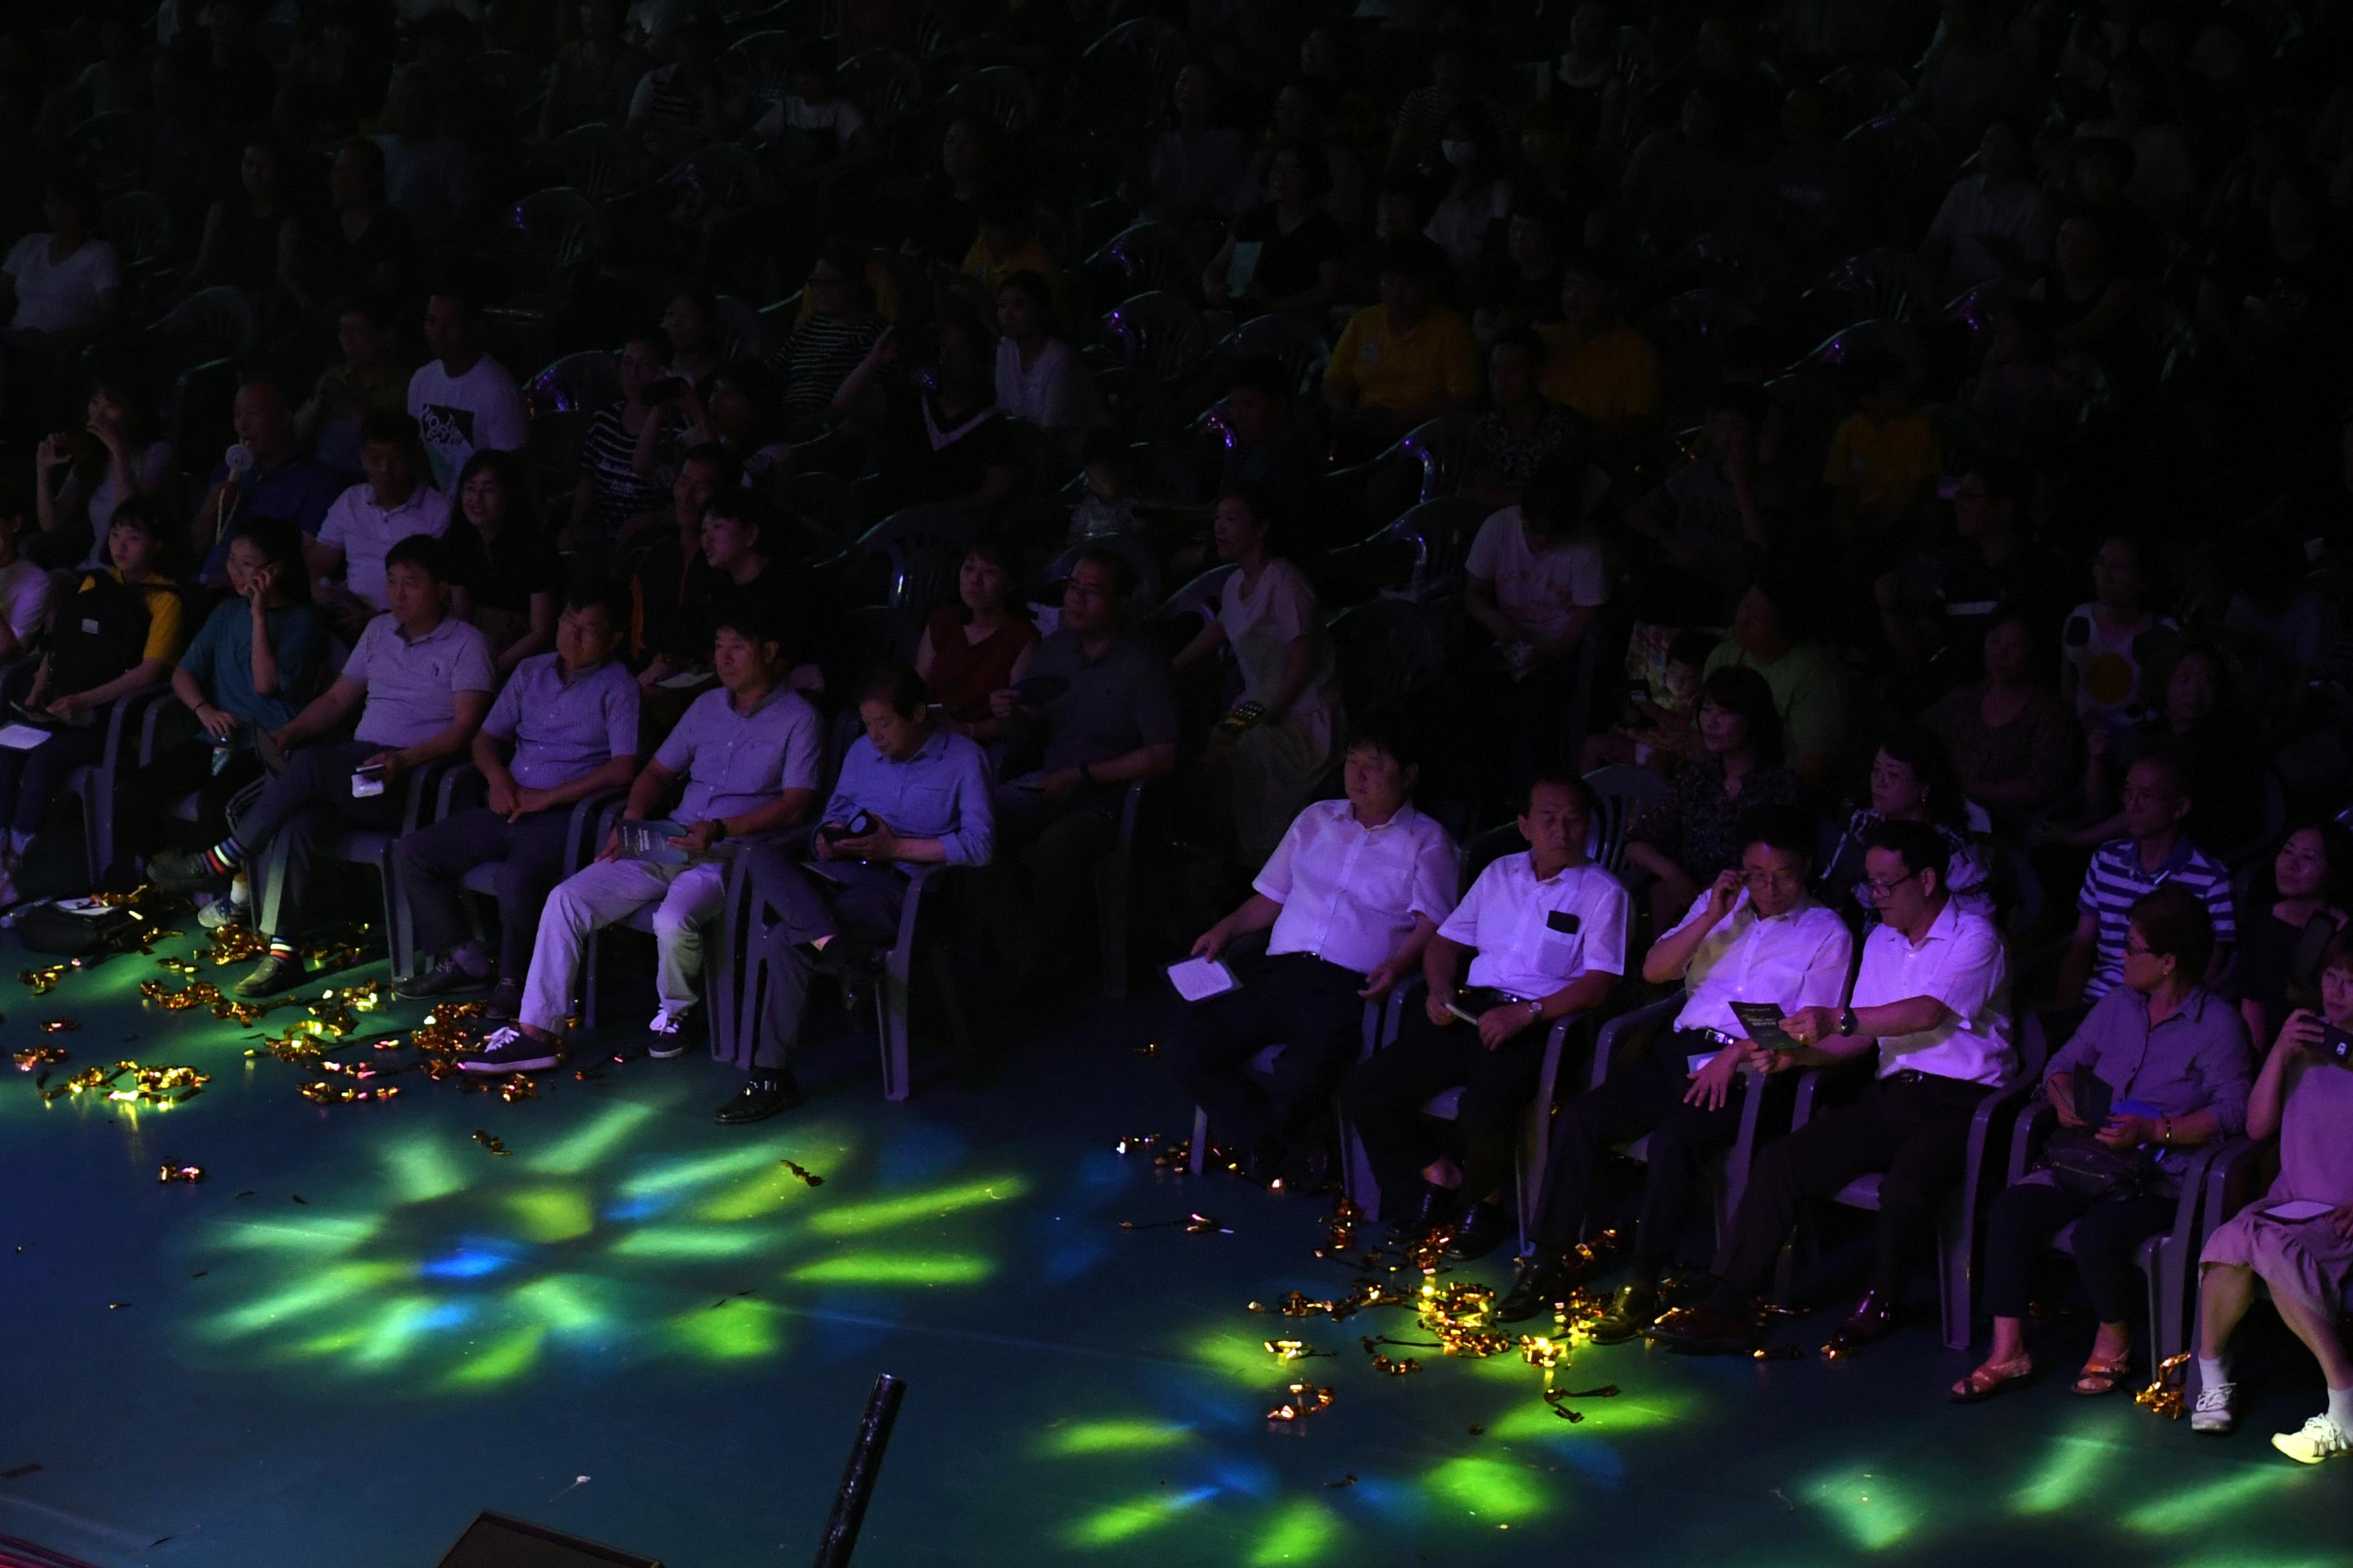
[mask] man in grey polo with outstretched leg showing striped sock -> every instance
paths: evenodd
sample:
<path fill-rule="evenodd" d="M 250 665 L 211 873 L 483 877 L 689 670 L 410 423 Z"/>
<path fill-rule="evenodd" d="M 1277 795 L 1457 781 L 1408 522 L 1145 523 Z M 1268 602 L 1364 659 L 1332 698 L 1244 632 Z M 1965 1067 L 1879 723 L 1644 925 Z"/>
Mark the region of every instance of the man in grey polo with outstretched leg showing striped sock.
<path fill-rule="evenodd" d="M 405 776 L 464 752 L 489 712 L 489 693 L 499 684 L 489 644 L 449 614 L 440 541 L 426 534 L 402 538 L 384 555 L 384 578 L 391 614 L 367 623 L 336 682 L 271 736 L 289 752 L 285 771 L 238 816 L 226 839 L 198 853 L 162 856 L 148 867 L 160 889 L 219 889 L 240 865 L 266 853 L 256 860 L 264 875 L 254 877 L 254 903 L 271 950 L 238 980 L 240 997 L 301 985 L 294 938 L 304 931 L 320 853 L 353 827 L 398 827 Z M 351 741 L 294 750 L 341 729 L 353 708 L 360 708 L 360 726 Z M 362 769 L 369 792 L 355 795 Z"/>

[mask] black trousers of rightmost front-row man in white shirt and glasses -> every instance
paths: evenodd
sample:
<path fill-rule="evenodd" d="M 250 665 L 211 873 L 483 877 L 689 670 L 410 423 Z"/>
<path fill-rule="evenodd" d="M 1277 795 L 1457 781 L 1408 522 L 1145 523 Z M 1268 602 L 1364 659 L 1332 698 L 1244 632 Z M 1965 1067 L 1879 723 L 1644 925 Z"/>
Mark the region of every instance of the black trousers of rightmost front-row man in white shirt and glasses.
<path fill-rule="evenodd" d="M 1880 1255 L 1871 1288 L 1897 1298 L 1937 1239 L 1937 1211 L 1969 1157 L 1969 1119 L 1984 1084 L 1889 1077 L 1758 1154 L 1711 1305 L 1739 1312 L 1772 1279 L 1781 1244 L 1807 1199 L 1835 1197 L 1880 1171 Z"/>

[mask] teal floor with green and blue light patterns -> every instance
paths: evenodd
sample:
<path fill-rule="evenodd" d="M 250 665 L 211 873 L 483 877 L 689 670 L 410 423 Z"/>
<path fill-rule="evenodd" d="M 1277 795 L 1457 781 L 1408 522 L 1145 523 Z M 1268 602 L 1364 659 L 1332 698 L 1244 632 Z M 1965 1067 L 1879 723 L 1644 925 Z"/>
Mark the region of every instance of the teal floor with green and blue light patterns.
<path fill-rule="evenodd" d="M 2266 1441 L 2320 1399 L 2278 1335 L 2214 1441 L 2064 1378 L 1953 1410 L 1969 1359 L 1925 1326 L 1849 1363 L 1586 1347 L 1558 1385 L 1619 1394 L 1567 1422 L 1518 1354 L 1374 1371 L 1358 1338 L 1426 1338 L 1407 1314 L 1252 1314 L 1346 1288 L 1329 1199 L 1115 1152 L 1188 1126 L 1139 1053 L 1160 1001 L 906 1105 L 845 1037 L 807 1110 L 727 1131 L 701 1058 L 315 1105 L 318 1072 L 245 1056 L 299 1009 L 165 1013 L 139 983 L 181 978 L 141 954 L 33 994 L 28 961 L 0 936 L 0 1037 L 68 1060 L 0 1065 L 0 1537 L 104 1568 L 428 1568 L 485 1507 L 673 1568 L 807 1561 L 880 1371 L 908 1396 L 861 1563 L 2353 1563 L 2353 1462 Z M 35 1086 L 125 1058 L 212 1081 L 172 1110 Z M 1231 1234 L 1122 1229 L 1188 1213 Z M 1332 1406 L 1271 1425 L 1301 1371 Z"/>

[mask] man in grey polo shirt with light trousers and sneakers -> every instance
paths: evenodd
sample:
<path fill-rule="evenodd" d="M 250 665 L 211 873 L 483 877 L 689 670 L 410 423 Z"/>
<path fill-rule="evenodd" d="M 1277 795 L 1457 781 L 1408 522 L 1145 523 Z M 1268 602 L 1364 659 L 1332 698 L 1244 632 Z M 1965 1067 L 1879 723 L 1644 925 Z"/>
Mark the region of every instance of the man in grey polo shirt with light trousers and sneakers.
<path fill-rule="evenodd" d="M 645 1053 L 682 1056 L 689 1044 L 704 931 L 725 912 L 722 844 L 781 832 L 809 820 L 824 769 L 816 710 L 784 684 L 784 649 L 751 607 L 720 616 L 711 665 L 718 691 L 694 698 L 678 729 L 628 788 L 624 823 L 659 816 L 671 788 L 685 792 L 671 813 L 666 853 L 631 856 L 614 832 L 595 865 L 558 884 L 539 917 L 532 971 L 513 1027 L 492 1032 L 459 1060 L 466 1072 L 541 1072 L 562 1060 L 562 1032 L 579 990 L 588 933 L 654 907 L 654 992 Z"/>

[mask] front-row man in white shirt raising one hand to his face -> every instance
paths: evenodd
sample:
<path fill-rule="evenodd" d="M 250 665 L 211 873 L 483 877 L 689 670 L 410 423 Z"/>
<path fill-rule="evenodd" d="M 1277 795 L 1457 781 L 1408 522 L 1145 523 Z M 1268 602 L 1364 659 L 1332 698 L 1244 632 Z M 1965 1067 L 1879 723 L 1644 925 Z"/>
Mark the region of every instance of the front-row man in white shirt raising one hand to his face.
<path fill-rule="evenodd" d="M 1659 1316 L 1659 1274 L 1675 1260 L 1701 1161 L 1739 1138 L 1741 1105 L 1753 1091 L 1751 1039 L 1732 1004 L 1791 1013 L 1845 997 L 1854 938 L 1835 910 L 1805 891 L 1814 820 L 1793 806 L 1765 806 L 1744 837 L 1739 867 L 1722 872 L 1642 957 L 1645 980 L 1685 987 L 1673 1032 L 1642 1060 L 1612 1063 L 1600 1088 L 1577 1095 L 1553 1121 L 1532 1227 L 1537 1251 L 1520 1260 L 1520 1276 L 1497 1309 L 1506 1324 L 1551 1312 L 1579 1281 L 1588 1265 L 1572 1253 L 1602 1157 L 1647 1133 L 1633 1267 L 1591 1328 L 1598 1345 L 1642 1333 Z"/>

